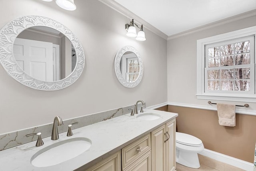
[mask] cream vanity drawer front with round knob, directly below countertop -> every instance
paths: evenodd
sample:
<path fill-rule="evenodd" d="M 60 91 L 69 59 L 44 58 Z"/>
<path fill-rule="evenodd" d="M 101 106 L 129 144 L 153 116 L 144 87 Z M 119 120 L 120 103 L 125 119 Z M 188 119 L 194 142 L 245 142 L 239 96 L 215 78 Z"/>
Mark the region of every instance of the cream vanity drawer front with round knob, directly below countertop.
<path fill-rule="evenodd" d="M 122 149 L 122 170 L 151 149 L 150 134 L 134 141 Z"/>

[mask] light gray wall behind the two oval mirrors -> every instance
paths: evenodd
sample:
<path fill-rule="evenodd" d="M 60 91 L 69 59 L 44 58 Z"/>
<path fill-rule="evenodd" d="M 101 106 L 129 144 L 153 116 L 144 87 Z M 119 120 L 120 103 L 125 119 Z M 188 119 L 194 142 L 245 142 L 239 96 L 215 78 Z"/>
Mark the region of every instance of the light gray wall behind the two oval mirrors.
<path fill-rule="evenodd" d="M 130 22 L 98 0 L 76 0 L 77 9 L 67 11 L 55 1 L 0 0 L 0 28 L 21 16 L 54 19 L 72 30 L 86 57 L 80 78 L 65 89 L 40 91 L 12 79 L 0 67 L 0 133 L 34 127 L 62 119 L 88 115 L 127 105 L 137 100 L 147 106 L 167 101 L 166 40 L 146 28 L 146 41 L 126 36 Z M 135 88 L 123 87 L 114 72 L 114 57 L 122 46 L 133 46 L 144 62 L 144 76 Z"/>

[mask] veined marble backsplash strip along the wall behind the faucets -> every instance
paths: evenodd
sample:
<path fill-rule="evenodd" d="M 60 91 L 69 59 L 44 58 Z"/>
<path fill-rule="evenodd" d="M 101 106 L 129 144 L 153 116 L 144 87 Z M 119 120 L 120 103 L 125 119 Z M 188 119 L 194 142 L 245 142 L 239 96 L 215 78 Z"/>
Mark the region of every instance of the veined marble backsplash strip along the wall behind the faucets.
<path fill-rule="evenodd" d="M 138 109 L 140 109 L 140 107 L 141 107 L 141 104 L 138 104 Z M 145 107 L 146 105 L 144 106 L 144 108 Z M 58 126 L 58 132 L 59 133 L 67 132 L 68 125 L 74 122 L 78 122 L 78 124 L 72 125 L 72 130 L 76 128 L 84 127 L 86 125 L 91 125 L 93 123 L 97 123 L 100 121 L 104 121 L 107 119 L 111 119 L 114 117 L 118 117 L 121 115 L 125 115 L 131 112 L 128 110 L 130 108 L 134 109 L 134 105 L 121 107 L 118 109 L 112 109 L 109 111 L 103 111 L 99 113 L 93 113 L 90 115 L 84 115 L 84 116 L 76 117 L 72 119 L 66 119 L 66 120 L 63 120 L 63 125 Z M 31 141 L 36 141 L 37 136 L 26 137 L 26 135 L 30 133 L 41 132 L 42 138 L 50 137 L 52 135 L 53 120 L 54 118 L 52 118 L 52 123 L 49 123 L 49 124 L 40 125 L 37 127 L 28 128 L 28 129 L 22 129 L 18 131 L 13 131 L 7 134 L 5 133 L 0 134 L 0 151 L 11 148 L 11 147 L 15 147 L 18 145 L 22 145 L 25 143 L 29 143 Z"/>

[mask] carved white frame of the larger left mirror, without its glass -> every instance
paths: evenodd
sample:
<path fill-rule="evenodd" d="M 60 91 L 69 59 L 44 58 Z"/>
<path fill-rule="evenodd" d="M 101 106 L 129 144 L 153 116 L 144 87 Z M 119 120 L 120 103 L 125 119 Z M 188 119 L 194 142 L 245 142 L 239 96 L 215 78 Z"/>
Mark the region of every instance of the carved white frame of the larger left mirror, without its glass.
<path fill-rule="evenodd" d="M 53 28 L 64 34 L 71 41 L 76 51 L 77 59 L 74 71 L 69 76 L 62 80 L 45 82 L 28 75 L 17 64 L 13 54 L 14 40 L 20 32 L 33 26 L 46 26 Z M 41 16 L 25 16 L 9 22 L 0 30 L 0 63 L 9 76 L 28 87 L 39 90 L 57 90 L 68 87 L 81 75 L 84 69 L 84 62 L 84 50 L 78 41 L 78 38 L 76 38 L 68 28 L 50 18 Z"/>

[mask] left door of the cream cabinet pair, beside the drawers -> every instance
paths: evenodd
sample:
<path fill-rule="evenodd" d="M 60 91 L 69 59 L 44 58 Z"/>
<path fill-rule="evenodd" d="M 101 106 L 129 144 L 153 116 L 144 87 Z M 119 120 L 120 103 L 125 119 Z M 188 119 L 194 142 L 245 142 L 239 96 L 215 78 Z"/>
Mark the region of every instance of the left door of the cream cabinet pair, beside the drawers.
<path fill-rule="evenodd" d="M 166 171 L 165 125 L 151 132 L 152 171 Z"/>

